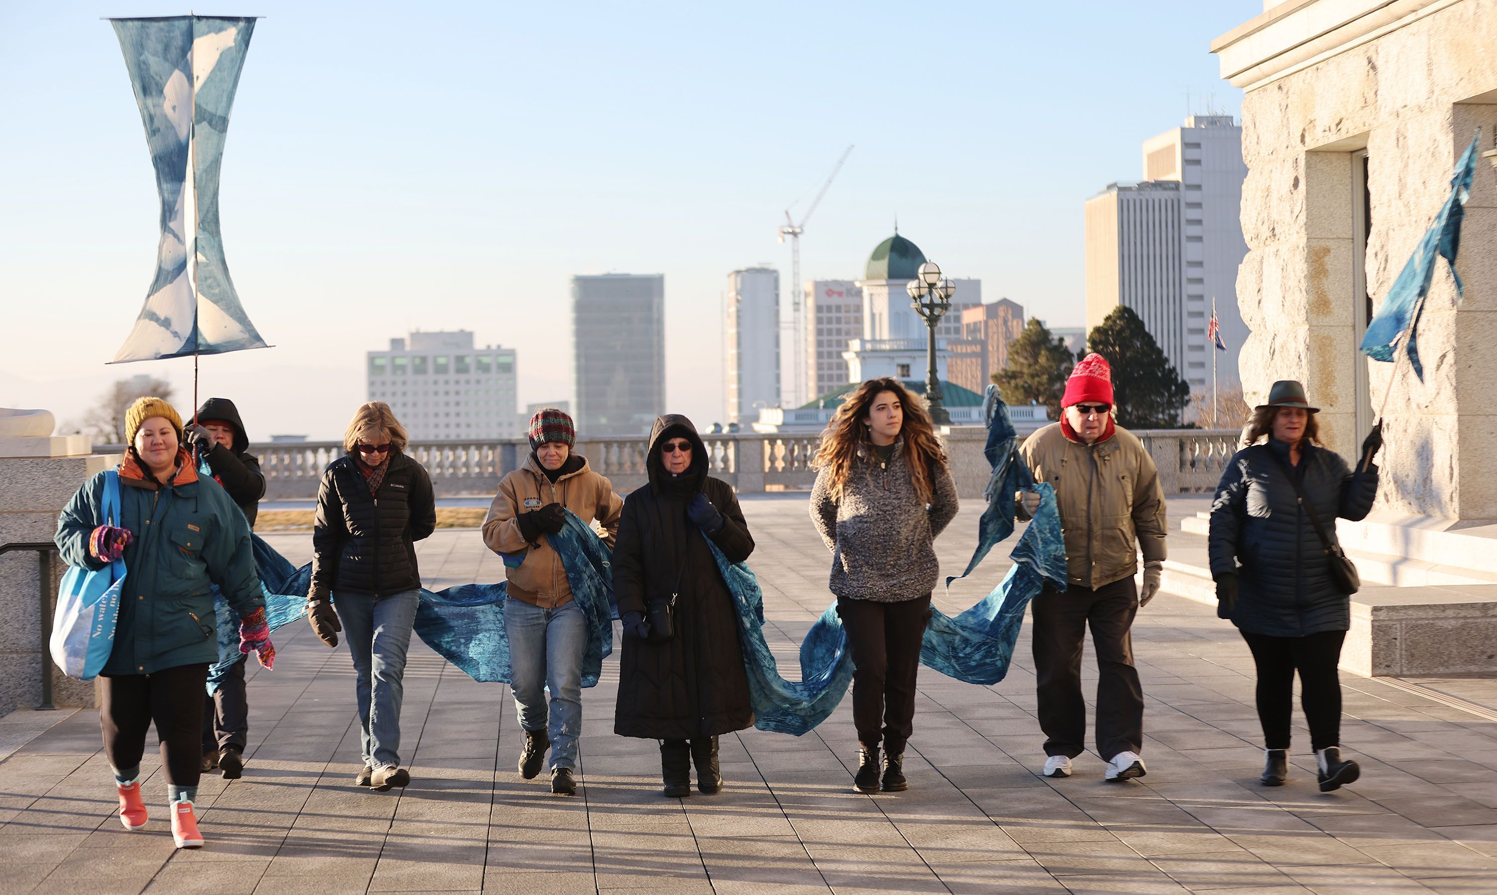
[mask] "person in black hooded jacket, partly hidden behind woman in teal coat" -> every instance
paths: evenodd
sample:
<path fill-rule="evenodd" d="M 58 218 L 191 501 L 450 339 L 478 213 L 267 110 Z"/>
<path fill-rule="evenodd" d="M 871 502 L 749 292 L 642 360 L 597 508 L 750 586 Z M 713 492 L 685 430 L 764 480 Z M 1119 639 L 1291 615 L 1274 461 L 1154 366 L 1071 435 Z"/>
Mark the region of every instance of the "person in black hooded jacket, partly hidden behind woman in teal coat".
<path fill-rule="evenodd" d="M 208 461 L 213 480 L 223 485 L 229 500 L 254 528 L 254 516 L 265 497 L 260 461 L 249 452 L 250 437 L 240 419 L 240 409 L 228 398 L 208 398 L 198 409 L 193 424 L 183 428 L 193 456 Z M 244 694 L 244 654 L 219 682 L 219 690 L 204 694 L 202 769 L 220 769 L 225 780 L 244 772 L 244 744 L 250 735 L 250 705 Z"/>

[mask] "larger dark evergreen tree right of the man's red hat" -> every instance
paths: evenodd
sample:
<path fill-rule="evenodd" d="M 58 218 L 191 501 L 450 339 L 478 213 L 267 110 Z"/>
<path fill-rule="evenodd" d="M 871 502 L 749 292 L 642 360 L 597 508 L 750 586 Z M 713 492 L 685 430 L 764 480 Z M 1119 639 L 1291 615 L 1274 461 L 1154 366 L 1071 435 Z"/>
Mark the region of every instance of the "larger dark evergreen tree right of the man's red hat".
<path fill-rule="evenodd" d="M 1087 335 L 1087 350 L 1112 365 L 1118 425 L 1141 430 L 1180 427 L 1190 403 L 1190 385 L 1159 350 L 1132 308 L 1118 305 Z"/>

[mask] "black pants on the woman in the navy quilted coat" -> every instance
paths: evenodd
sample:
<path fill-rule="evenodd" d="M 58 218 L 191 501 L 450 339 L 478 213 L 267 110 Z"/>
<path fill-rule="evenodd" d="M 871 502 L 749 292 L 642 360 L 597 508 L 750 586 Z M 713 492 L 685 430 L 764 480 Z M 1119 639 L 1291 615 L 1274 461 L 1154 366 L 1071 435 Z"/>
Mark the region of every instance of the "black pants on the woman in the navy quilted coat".
<path fill-rule="evenodd" d="M 1341 662 L 1346 632 L 1320 632 L 1302 638 L 1271 638 L 1243 632 L 1257 665 L 1257 720 L 1263 724 L 1263 748 L 1289 748 L 1289 718 L 1295 711 L 1295 671 L 1299 672 L 1299 705 L 1310 723 L 1310 747 L 1341 745 Z"/>

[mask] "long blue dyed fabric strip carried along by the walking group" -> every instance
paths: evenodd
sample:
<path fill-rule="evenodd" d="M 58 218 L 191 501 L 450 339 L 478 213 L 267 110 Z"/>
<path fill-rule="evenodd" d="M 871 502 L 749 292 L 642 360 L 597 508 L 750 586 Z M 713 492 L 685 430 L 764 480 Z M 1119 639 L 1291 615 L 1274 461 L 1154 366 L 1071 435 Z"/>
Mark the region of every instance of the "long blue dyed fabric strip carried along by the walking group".
<path fill-rule="evenodd" d="M 1009 557 L 1013 567 L 987 597 L 955 618 L 934 609 L 921 645 L 921 662 L 945 675 L 973 684 L 994 684 L 1007 675 L 1018 642 L 1024 608 L 1045 584 L 1066 588 L 1066 548 L 1060 534 L 1055 492 L 1049 483 L 1034 483 L 1028 468 L 1015 453 L 1018 436 L 1007 406 L 994 388 L 987 397 L 988 442 L 985 455 L 993 465 L 988 480 L 988 507 L 978 525 L 978 548 L 963 575 L 972 573 L 993 548 L 1013 533 L 1013 494 L 1033 491 L 1040 495 L 1039 510 Z M 734 597 L 744 671 L 760 730 L 799 736 L 835 711 L 853 665 L 847 650 L 837 605 L 832 603 L 811 626 L 799 650 L 801 676 L 784 679 L 763 636 L 763 593 L 746 563 L 729 563 L 722 551 L 707 542 L 717 560 L 717 570 Z M 551 537 L 551 545 L 566 567 L 572 594 L 588 620 L 588 644 L 582 663 L 582 685 L 597 684 L 602 663 L 612 651 L 612 620 L 618 618 L 608 548 L 581 519 L 567 513 L 566 527 Z M 292 569 L 280 554 L 259 537 L 254 558 L 266 588 L 265 606 L 271 629 L 305 614 L 307 584 L 311 567 Z M 955 578 L 948 579 L 948 585 Z M 506 585 L 466 584 L 439 593 L 421 591 L 416 635 L 443 659 L 476 681 L 510 679 L 509 641 L 504 636 Z M 232 651 L 232 654 L 229 653 Z M 210 691 L 238 654 L 238 618 L 219 600 L 219 653 Z"/>

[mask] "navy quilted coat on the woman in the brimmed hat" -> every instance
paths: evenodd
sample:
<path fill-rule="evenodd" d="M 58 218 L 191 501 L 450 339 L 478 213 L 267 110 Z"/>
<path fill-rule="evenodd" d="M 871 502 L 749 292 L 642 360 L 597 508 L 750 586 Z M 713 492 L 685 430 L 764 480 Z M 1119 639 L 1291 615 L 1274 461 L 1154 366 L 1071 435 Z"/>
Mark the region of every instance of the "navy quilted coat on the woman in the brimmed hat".
<path fill-rule="evenodd" d="M 1344 632 L 1350 599 L 1331 579 L 1320 537 L 1274 453 L 1289 462 L 1289 446 L 1274 439 L 1228 461 L 1211 504 L 1211 576 L 1238 575 L 1232 624 L 1247 633 Z M 1332 539 L 1337 516 L 1356 521 L 1373 509 L 1376 465 L 1353 474 L 1338 453 L 1308 445 L 1290 468 Z"/>

